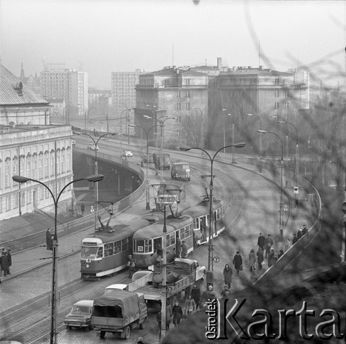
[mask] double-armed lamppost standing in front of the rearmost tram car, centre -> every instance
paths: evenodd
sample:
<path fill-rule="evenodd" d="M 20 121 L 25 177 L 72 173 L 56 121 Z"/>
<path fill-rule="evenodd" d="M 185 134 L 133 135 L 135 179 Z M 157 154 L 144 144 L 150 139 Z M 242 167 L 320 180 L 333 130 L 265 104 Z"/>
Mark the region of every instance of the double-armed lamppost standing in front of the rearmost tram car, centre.
<path fill-rule="evenodd" d="M 212 165 L 214 163 L 215 156 L 217 156 L 217 153 L 219 153 L 221 150 L 224 150 L 225 148 L 228 147 L 235 147 L 235 148 L 241 148 L 244 147 L 246 143 L 241 142 L 241 143 L 235 143 L 235 145 L 227 145 L 226 147 L 221 147 L 217 152 L 214 154 L 214 156 L 210 156 L 210 154 L 206 151 L 203 150 L 203 148 L 199 147 L 179 147 L 179 150 L 188 152 L 189 150 L 201 150 L 205 152 L 210 160 L 210 185 L 209 185 L 209 247 L 208 247 L 208 274 L 211 276 L 211 280 L 213 280 L 212 277 L 212 271 L 214 271 L 214 254 L 213 254 L 213 237 L 214 233 L 212 233 L 212 225 L 214 222 L 214 217 L 213 215 L 213 199 L 212 199 L 212 190 L 214 189 L 214 176 L 212 174 Z M 211 282 L 212 284 L 212 282 Z"/>

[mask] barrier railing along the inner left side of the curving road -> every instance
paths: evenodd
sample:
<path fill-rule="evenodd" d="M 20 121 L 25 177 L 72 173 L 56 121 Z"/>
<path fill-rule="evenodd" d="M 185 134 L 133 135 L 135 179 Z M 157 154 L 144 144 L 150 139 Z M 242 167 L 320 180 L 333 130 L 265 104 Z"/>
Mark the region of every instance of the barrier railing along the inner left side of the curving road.
<path fill-rule="evenodd" d="M 77 147 L 74 148 L 75 151 L 79 151 L 80 153 L 84 153 L 84 150 L 79 150 Z M 118 158 L 116 156 L 111 156 L 108 154 L 98 153 L 98 160 L 106 160 L 113 161 L 118 165 L 122 165 L 125 168 L 129 168 L 134 172 L 138 173 L 143 183 L 139 186 L 137 190 L 129 194 L 124 199 L 121 199 L 117 203 L 113 204 L 113 212 L 116 214 L 125 210 L 131 203 L 134 203 L 142 194 L 145 192 L 145 173 L 144 171 L 136 164 L 131 163 L 128 160 Z M 106 215 L 105 215 L 106 216 Z M 57 226 L 57 236 L 63 237 L 64 235 L 73 234 L 78 232 L 79 230 L 91 228 L 95 224 L 95 215 L 90 214 L 84 217 L 80 217 L 79 219 L 75 219 L 66 224 L 62 224 Z M 12 239 L 7 242 L 1 242 L 0 247 L 9 247 L 12 250 L 12 253 L 26 250 L 28 248 L 32 248 L 38 245 L 46 244 L 46 230 L 42 230 L 38 233 L 26 235 L 25 237 L 19 237 L 17 239 Z"/>

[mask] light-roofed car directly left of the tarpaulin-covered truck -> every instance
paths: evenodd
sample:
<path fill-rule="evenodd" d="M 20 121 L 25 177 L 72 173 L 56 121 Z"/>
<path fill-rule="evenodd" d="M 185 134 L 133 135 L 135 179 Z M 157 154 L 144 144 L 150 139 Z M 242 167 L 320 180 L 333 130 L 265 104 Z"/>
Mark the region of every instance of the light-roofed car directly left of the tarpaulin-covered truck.
<path fill-rule="evenodd" d="M 64 325 L 67 329 L 79 327 L 84 329 L 93 329 L 91 323 L 91 314 L 93 312 L 93 300 L 82 300 L 76 302 L 70 313 L 64 319 Z"/>

